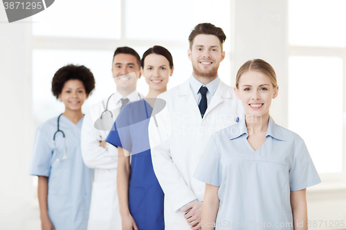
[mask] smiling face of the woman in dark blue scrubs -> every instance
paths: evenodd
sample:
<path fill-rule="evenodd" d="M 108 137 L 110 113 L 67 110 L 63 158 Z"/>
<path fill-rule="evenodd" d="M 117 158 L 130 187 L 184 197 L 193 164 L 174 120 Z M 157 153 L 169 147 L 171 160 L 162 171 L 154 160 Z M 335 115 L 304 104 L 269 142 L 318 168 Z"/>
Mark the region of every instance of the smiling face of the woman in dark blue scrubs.
<path fill-rule="evenodd" d="M 173 74 L 173 69 L 174 67 L 170 68 L 170 62 L 167 58 L 152 53 L 145 57 L 144 67 L 140 71 L 150 89 L 163 91 L 167 89 L 167 83 Z"/>

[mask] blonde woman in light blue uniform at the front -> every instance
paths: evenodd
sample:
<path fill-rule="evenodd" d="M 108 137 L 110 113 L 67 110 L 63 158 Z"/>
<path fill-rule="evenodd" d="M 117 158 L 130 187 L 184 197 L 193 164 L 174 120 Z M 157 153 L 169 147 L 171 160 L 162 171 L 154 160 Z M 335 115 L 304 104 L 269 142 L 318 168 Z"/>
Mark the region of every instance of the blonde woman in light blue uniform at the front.
<path fill-rule="evenodd" d="M 269 115 L 273 67 L 247 61 L 235 93 L 246 114 L 212 135 L 194 173 L 206 182 L 202 229 L 307 229 L 306 188 L 320 178 L 304 140 Z"/>

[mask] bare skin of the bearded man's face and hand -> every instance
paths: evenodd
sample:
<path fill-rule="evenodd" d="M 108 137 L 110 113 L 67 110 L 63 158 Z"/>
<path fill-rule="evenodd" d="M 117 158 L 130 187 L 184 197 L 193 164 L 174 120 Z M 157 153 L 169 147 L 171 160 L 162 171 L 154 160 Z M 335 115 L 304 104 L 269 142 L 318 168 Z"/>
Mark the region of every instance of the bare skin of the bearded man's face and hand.
<path fill-rule="evenodd" d="M 217 78 L 217 70 L 220 62 L 225 58 L 225 51 L 222 44 L 215 35 L 197 35 L 194 37 L 191 48 L 188 50 L 188 57 L 192 62 L 192 75 L 203 85 L 206 85 Z M 192 202 L 186 205 L 181 211 L 191 229 L 201 229 L 202 202 Z"/>

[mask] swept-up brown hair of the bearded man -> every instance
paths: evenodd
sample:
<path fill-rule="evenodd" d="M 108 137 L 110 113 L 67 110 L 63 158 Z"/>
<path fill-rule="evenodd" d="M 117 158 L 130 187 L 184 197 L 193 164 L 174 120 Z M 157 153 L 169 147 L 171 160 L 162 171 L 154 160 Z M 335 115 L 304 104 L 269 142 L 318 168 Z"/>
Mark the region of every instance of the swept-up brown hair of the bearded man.
<path fill-rule="evenodd" d="M 194 29 L 190 33 L 190 36 L 189 36 L 190 50 L 192 49 L 194 38 L 197 35 L 215 35 L 220 40 L 221 50 L 222 50 L 222 44 L 224 44 L 226 40 L 226 35 L 224 33 L 224 30 L 222 30 L 221 28 L 214 26 L 212 23 L 199 23 L 197 26 L 194 27 Z"/>

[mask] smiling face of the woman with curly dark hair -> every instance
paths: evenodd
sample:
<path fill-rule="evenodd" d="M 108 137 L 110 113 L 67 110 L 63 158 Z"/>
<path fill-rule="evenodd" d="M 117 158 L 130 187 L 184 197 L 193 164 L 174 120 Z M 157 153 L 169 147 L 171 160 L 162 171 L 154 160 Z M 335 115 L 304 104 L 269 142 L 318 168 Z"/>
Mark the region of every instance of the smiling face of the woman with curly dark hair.
<path fill-rule="evenodd" d="M 77 79 L 71 79 L 65 82 L 59 99 L 64 102 L 65 110 L 81 110 L 84 100 L 87 98 L 83 83 Z"/>

